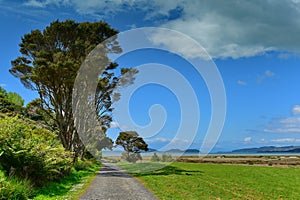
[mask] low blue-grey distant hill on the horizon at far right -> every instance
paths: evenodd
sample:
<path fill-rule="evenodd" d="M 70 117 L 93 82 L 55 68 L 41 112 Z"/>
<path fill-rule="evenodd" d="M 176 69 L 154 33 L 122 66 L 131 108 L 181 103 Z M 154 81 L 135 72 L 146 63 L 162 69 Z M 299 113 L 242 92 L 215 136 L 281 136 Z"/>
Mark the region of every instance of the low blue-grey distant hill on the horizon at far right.
<path fill-rule="evenodd" d="M 259 148 L 246 148 L 233 150 L 231 153 L 300 153 L 300 146 L 264 146 Z"/>

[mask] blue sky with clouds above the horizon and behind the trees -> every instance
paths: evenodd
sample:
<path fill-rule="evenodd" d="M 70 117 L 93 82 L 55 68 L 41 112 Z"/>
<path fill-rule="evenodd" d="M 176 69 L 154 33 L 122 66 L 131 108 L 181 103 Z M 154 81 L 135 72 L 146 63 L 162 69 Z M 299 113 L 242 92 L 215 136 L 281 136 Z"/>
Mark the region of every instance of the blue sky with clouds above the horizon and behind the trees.
<path fill-rule="evenodd" d="M 36 97 L 9 72 L 10 61 L 19 55 L 21 37 L 33 29 L 44 29 L 56 19 L 104 20 L 119 31 L 141 27 L 161 27 L 188 35 L 213 58 L 226 92 L 226 119 L 215 151 L 265 145 L 300 145 L 300 1 L 205 1 L 205 0 L 0 0 L 1 56 L 0 84 L 19 93 L 26 102 Z M 157 38 L 156 38 L 157 39 Z M 180 51 L 184 44 L 161 37 L 169 49 Z M 160 104 L 152 118 L 166 120 L 160 131 L 146 140 L 152 148 L 170 144 L 199 149 L 211 120 L 210 92 L 182 57 L 193 56 L 184 49 L 178 56 L 162 51 L 143 50 L 120 57 L 121 66 L 147 63 L 168 65 L 190 81 L 200 111 L 196 135 L 176 138 L 181 122 L 177 95 L 157 84 L 141 87 L 132 96 L 130 112 L 139 125 L 151 122 L 152 105 Z M 154 71 L 160 73 L 157 67 Z M 165 76 L 168 79 L 168 76 Z M 189 111 L 190 123 L 195 123 Z M 166 114 L 164 119 L 164 113 Z M 120 123 L 109 131 L 115 138 Z M 141 135 L 151 135 L 140 132 Z M 195 137 L 194 137 L 195 136 Z"/>

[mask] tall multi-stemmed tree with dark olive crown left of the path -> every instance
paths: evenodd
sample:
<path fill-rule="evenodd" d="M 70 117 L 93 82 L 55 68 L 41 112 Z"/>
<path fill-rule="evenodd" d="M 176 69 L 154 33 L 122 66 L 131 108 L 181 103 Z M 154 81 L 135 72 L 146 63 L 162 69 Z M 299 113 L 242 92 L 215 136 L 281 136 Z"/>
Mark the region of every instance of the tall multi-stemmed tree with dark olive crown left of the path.
<path fill-rule="evenodd" d="M 10 72 L 25 87 L 38 92 L 43 109 L 55 121 L 63 146 L 83 155 L 83 144 L 74 127 L 72 91 L 77 72 L 86 56 L 99 43 L 118 32 L 105 22 L 77 23 L 73 20 L 54 21 L 45 30 L 33 30 L 22 37 L 21 56 L 12 61 Z M 108 52 L 119 53 L 116 41 L 106 44 Z M 96 114 L 103 130 L 109 128 L 114 89 L 121 76 L 129 69 L 121 70 L 110 63 L 99 77 L 95 94 Z"/>

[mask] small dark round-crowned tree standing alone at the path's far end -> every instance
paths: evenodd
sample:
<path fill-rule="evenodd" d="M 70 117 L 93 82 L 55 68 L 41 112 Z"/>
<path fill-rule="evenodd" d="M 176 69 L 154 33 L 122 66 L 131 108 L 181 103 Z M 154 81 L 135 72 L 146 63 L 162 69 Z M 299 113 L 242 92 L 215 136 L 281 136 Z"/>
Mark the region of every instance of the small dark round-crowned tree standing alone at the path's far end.
<path fill-rule="evenodd" d="M 120 132 L 116 144 L 124 148 L 122 158 L 128 162 L 142 160 L 140 152 L 148 151 L 148 144 L 135 131 Z"/>

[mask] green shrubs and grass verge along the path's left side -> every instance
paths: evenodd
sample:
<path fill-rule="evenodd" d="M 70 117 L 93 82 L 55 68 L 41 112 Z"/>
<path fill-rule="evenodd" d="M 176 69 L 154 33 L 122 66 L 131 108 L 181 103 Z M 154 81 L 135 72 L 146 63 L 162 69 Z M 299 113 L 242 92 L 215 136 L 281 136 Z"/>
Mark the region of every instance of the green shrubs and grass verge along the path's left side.
<path fill-rule="evenodd" d="M 1 200 L 70 199 L 82 193 L 99 168 L 95 161 L 74 163 L 55 132 L 18 115 L 0 115 Z"/>

